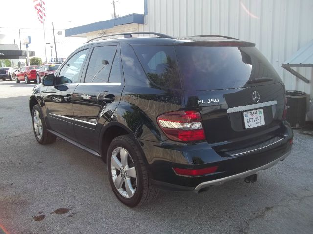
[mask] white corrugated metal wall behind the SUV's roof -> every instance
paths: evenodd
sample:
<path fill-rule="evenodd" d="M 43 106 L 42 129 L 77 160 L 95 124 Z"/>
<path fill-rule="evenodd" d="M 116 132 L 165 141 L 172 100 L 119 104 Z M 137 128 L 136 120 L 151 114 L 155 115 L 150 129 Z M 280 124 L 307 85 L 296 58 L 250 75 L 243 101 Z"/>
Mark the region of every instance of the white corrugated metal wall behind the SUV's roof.
<path fill-rule="evenodd" d="M 287 90 L 304 91 L 313 97 L 312 68 L 296 69 L 312 80 L 306 84 L 280 67 L 313 39 L 313 0 L 148 0 L 145 17 L 145 31 L 177 37 L 221 34 L 254 42 Z"/>

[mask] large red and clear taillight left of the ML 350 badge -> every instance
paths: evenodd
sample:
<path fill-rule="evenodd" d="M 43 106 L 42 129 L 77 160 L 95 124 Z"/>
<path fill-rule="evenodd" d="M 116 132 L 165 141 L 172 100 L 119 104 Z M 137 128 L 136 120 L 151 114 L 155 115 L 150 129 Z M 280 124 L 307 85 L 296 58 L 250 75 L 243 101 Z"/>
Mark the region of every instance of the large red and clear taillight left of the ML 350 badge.
<path fill-rule="evenodd" d="M 162 114 L 157 117 L 157 123 L 171 140 L 182 142 L 205 140 L 201 115 L 197 111 L 181 110 Z"/>

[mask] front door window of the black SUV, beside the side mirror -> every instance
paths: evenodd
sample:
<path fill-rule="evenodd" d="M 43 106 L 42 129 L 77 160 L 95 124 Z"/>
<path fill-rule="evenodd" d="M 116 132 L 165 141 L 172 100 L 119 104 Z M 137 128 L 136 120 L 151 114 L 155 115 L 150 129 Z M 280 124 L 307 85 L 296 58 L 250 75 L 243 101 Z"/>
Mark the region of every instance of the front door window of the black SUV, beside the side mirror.
<path fill-rule="evenodd" d="M 87 52 L 88 49 L 82 50 L 67 61 L 60 71 L 57 84 L 76 83 L 78 81 Z"/>

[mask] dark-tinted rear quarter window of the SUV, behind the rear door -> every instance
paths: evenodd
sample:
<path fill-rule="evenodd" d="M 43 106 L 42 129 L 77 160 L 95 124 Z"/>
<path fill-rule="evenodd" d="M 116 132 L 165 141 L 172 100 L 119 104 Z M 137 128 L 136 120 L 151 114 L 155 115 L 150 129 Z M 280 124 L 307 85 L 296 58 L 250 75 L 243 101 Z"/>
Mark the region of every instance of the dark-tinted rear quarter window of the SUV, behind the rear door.
<path fill-rule="evenodd" d="M 173 46 L 133 46 L 149 80 L 161 87 L 181 88 Z"/>

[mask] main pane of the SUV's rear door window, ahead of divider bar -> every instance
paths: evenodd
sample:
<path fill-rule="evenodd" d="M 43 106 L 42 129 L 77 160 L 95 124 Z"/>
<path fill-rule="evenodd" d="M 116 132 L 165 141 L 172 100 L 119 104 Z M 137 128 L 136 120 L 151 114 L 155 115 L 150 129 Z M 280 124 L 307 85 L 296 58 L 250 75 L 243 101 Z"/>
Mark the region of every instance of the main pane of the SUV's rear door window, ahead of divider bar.
<path fill-rule="evenodd" d="M 108 82 L 116 54 L 116 46 L 99 46 L 92 51 L 85 76 L 85 83 Z"/>

